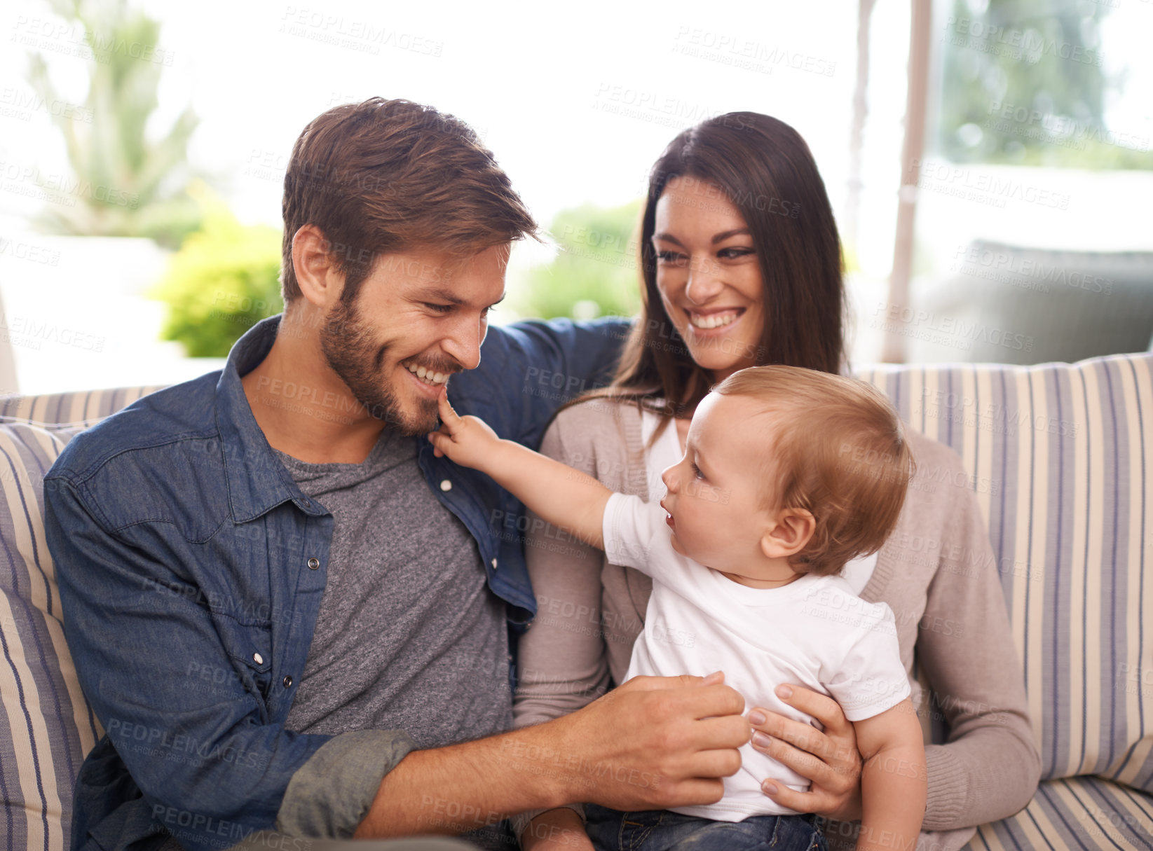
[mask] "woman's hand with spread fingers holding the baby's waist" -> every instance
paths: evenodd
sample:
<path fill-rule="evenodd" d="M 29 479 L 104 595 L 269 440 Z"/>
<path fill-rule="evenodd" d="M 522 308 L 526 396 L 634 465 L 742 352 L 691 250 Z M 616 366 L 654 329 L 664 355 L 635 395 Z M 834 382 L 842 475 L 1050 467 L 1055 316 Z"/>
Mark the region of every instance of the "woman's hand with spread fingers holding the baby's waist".
<path fill-rule="evenodd" d="M 815 717 L 824 730 L 763 707 L 754 707 L 748 713 L 754 730 L 753 747 L 812 781 L 807 792 L 766 781 L 764 793 L 800 813 L 816 813 L 838 821 L 859 820 L 861 757 L 852 722 L 836 700 L 802 685 L 778 685 L 777 697 Z"/>

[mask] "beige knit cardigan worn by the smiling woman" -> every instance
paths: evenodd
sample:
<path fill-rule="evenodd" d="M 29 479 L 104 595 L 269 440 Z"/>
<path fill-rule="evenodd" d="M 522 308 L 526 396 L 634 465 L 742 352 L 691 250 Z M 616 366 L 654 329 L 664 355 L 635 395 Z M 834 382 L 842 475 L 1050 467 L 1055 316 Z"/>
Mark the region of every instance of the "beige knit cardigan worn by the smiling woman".
<path fill-rule="evenodd" d="M 1023 808 L 1037 790 L 1041 761 L 996 560 L 977 500 L 963 484 L 960 458 L 906 433 L 917 473 L 861 597 L 892 609 L 925 740 L 936 727 L 936 740 L 945 742 L 926 744 L 922 830 L 934 833 L 922 833 L 918 844 L 944 851 L 964 845 L 972 827 Z M 593 400 L 562 411 L 541 451 L 613 491 L 648 499 L 634 404 Z M 653 588 L 649 577 L 608 563 L 601 550 L 536 517 L 528 529 L 537 616 L 520 639 L 515 727 L 579 709 L 621 681 Z M 518 834 L 535 814 L 515 820 Z M 831 848 L 851 838 L 846 827 L 829 836 Z"/>

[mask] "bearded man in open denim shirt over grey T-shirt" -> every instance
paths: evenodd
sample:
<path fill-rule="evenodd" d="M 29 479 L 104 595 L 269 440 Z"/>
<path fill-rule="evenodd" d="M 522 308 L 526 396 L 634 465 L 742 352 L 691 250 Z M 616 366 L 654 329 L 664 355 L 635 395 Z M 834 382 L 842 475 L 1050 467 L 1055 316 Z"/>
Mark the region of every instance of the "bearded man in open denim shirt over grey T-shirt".
<path fill-rule="evenodd" d="M 220 373 L 77 436 L 45 480 L 66 635 L 106 731 L 74 848 L 272 827 L 491 844 L 504 816 L 571 800 L 719 798 L 748 738 L 723 685 L 649 679 L 498 735 L 510 630 L 535 611 L 520 507 L 423 438 L 449 382 L 458 410 L 535 446 L 552 377 L 570 394 L 603 379 L 627 326 L 485 340 L 535 225 L 475 134 L 428 107 L 314 120 L 284 218 L 282 317 Z"/>

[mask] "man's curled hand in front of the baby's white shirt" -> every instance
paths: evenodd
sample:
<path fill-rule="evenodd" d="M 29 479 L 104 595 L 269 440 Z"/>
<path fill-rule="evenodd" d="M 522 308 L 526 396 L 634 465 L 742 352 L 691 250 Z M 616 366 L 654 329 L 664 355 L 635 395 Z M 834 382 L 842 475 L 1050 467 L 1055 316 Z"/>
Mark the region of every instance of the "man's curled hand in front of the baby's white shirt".
<path fill-rule="evenodd" d="M 553 722 L 567 725 L 555 761 L 585 790 L 576 800 L 625 811 L 721 800 L 752 732 L 723 679 L 634 677 Z"/>

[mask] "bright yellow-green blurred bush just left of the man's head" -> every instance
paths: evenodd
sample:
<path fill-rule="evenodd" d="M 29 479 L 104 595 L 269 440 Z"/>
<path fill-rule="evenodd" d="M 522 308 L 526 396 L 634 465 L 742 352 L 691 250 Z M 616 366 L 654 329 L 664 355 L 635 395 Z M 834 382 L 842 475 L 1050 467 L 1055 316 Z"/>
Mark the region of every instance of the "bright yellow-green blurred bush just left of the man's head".
<path fill-rule="evenodd" d="M 203 183 L 189 192 L 203 215 L 151 296 L 168 303 L 164 340 L 184 344 L 189 357 L 224 357 L 254 324 L 279 313 L 280 230 L 241 225 Z"/>

